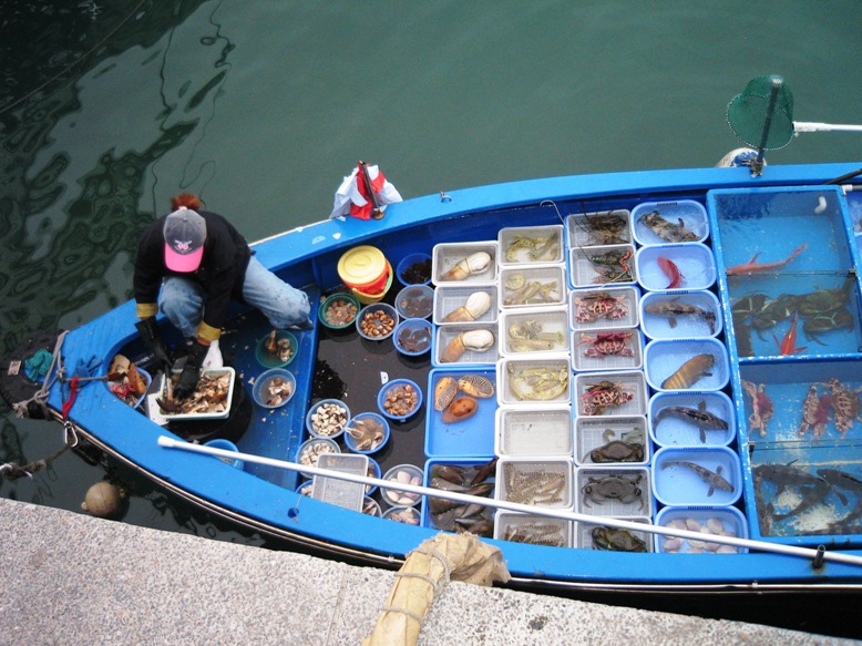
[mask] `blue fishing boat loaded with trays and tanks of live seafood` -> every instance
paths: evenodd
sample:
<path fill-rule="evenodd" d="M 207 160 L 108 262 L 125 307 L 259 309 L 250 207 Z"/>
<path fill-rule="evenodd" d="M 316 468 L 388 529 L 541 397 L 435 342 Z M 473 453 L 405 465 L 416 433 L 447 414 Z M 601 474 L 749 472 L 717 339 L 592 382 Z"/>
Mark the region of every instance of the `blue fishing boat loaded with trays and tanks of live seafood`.
<path fill-rule="evenodd" d="M 862 170 L 755 171 L 531 180 L 301 226 L 253 247 L 319 305 L 314 329 L 281 330 L 278 356 L 235 305 L 215 410 L 160 403 L 131 301 L 47 348 L 47 404 L 208 513 L 335 557 L 391 567 L 470 531 L 536 589 L 859 589 Z M 110 388 L 117 356 L 140 398 Z"/>

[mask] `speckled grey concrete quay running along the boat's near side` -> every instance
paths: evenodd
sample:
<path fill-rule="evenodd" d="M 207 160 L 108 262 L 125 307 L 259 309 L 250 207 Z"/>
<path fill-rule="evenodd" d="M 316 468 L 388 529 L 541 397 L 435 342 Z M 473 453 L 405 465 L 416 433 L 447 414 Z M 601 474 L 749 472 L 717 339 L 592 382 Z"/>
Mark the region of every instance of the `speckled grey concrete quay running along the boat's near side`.
<path fill-rule="evenodd" d="M 394 572 L 0 499 L 0 644 L 361 644 Z M 854 621 L 848 617 L 848 621 Z M 419 644 L 859 644 L 450 583 Z"/>

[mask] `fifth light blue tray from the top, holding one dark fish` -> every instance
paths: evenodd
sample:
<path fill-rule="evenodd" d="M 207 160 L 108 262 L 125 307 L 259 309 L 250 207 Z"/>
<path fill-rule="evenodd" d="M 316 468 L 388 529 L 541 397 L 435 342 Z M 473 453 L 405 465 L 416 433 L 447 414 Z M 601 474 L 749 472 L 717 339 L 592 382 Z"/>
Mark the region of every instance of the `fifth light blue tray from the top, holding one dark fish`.
<path fill-rule="evenodd" d="M 649 400 L 649 437 L 659 447 L 727 447 L 737 437 L 733 402 L 720 391 L 658 392 Z"/>

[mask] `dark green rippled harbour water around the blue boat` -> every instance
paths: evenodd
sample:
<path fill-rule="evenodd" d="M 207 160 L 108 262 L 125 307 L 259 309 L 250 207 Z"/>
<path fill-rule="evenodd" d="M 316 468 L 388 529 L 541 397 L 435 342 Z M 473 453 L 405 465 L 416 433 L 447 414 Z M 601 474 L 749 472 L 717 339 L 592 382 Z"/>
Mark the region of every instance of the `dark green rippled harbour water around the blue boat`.
<path fill-rule="evenodd" d="M 127 300 L 137 235 L 179 192 L 255 240 L 327 217 L 357 160 L 404 197 L 711 166 L 741 145 L 728 102 L 770 73 L 792 89 L 797 121 L 858 123 L 861 17 L 804 0 L 4 8 L 0 349 Z M 860 142 L 802 134 L 767 161 L 859 161 Z M 59 424 L 0 412 L 0 463 L 62 445 Z M 0 481 L 0 496 L 80 511 L 106 474 L 129 486 L 125 522 L 267 544 L 72 452 Z"/>

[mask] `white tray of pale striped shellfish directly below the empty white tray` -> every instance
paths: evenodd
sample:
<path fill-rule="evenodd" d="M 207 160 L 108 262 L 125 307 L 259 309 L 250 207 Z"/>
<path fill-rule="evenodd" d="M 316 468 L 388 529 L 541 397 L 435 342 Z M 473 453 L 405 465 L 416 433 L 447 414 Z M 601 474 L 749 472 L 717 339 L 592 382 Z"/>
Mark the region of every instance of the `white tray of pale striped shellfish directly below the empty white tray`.
<path fill-rule="evenodd" d="M 501 458 L 494 498 L 553 509 L 572 507 L 571 460 Z"/>

